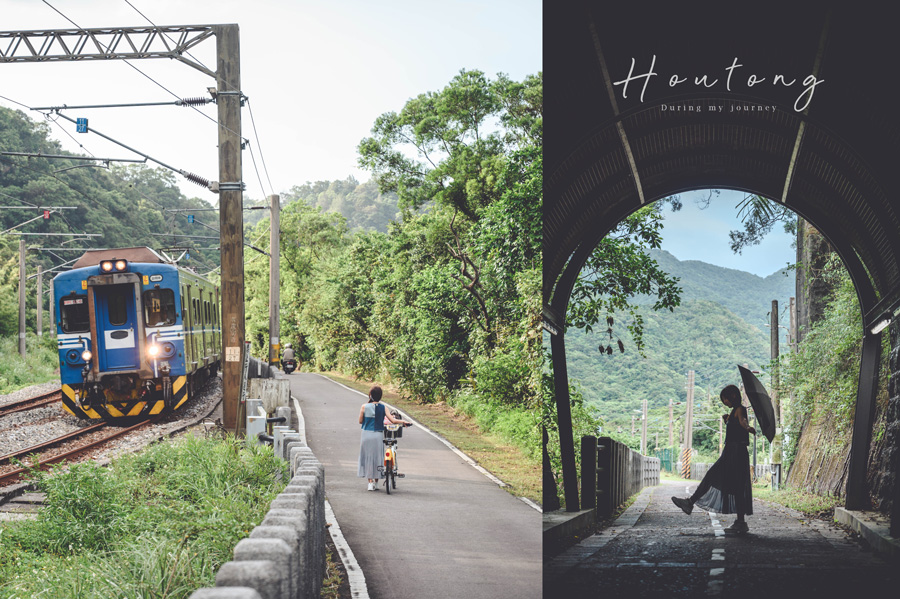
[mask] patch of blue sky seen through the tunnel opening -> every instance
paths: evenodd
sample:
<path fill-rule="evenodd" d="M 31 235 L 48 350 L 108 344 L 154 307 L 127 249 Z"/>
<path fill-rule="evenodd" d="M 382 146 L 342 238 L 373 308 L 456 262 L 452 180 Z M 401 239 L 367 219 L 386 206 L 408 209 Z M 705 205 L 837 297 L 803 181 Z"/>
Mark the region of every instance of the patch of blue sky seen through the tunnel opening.
<path fill-rule="evenodd" d="M 664 211 L 662 249 L 679 260 L 700 260 L 726 268 L 734 268 L 767 277 L 796 261 L 791 247 L 793 236 L 776 225 L 759 245 L 741 254 L 731 251 L 728 232 L 741 229 L 737 205 L 746 194 L 722 190 L 714 195 L 709 207 L 700 209 L 697 199 L 705 199 L 708 191 L 692 191 L 680 195 L 684 207 L 678 212 Z"/>

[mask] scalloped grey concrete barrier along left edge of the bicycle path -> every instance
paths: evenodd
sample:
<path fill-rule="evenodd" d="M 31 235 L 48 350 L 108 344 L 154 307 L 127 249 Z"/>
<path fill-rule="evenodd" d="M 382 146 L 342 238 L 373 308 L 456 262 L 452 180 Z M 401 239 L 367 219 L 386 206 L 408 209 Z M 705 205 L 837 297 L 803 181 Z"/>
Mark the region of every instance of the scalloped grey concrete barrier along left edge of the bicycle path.
<path fill-rule="evenodd" d="M 286 435 L 281 457 L 291 480 L 259 526 L 234 548 L 215 588 L 190 599 L 317 599 L 325 577 L 325 468 L 312 450 Z"/>

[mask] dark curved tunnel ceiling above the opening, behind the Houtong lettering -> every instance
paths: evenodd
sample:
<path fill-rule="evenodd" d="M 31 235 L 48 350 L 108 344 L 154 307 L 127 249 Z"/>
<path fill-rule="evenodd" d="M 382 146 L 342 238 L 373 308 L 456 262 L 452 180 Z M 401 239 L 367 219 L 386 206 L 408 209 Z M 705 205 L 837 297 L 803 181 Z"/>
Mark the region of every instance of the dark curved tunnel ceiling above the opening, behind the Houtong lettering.
<path fill-rule="evenodd" d="M 545 300 L 567 263 L 639 205 L 634 171 L 646 202 L 716 187 L 785 198 L 840 251 L 864 310 L 878 296 L 879 310 L 900 297 L 900 206 L 888 185 L 898 148 L 895 68 L 884 72 L 897 55 L 889 20 L 852 3 L 827 29 L 822 7 L 668 3 L 651 18 L 637 3 L 608 4 L 545 11 Z M 643 101 L 646 78 L 629 83 L 627 99 L 623 86 L 604 80 L 601 60 L 615 82 L 628 77 L 632 58 L 633 75 L 646 74 L 654 55 Z M 728 91 L 735 58 L 741 66 Z M 804 115 L 795 103 L 809 99 L 804 80 L 813 73 L 822 82 Z M 673 75 L 687 81 L 670 87 Z M 704 75 L 717 83 L 695 85 Z M 750 75 L 765 81 L 748 87 Z M 796 82 L 773 85 L 776 75 Z M 686 106 L 701 112 L 677 110 Z M 760 106 L 777 108 L 732 110 Z"/>

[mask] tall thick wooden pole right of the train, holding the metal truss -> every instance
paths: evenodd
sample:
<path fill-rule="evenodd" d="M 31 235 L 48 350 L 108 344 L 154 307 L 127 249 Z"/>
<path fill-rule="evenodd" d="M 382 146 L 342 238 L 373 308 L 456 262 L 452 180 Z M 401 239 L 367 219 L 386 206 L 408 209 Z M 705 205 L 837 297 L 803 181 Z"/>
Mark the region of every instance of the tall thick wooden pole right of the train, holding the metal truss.
<path fill-rule="evenodd" d="M 236 24 L 215 25 L 219 117 L 219 231 L 222 265 L 222 420 L 237 427 L 244 348 L 244 219 L 241 169 L 241 60 Z"/>

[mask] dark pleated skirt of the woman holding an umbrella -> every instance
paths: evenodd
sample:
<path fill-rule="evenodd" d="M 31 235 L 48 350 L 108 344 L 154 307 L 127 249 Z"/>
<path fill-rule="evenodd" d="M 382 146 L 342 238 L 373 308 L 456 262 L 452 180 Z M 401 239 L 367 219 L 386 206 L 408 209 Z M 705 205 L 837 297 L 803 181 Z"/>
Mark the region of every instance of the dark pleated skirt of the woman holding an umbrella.
<path fill-rule="evenodd" d="M 703 481 L 709 483 L 709 490 L 697 499 L 696 505 L 719 514 L 753 513 L 750 454 L 743 443 L 726 443 Z"/>

